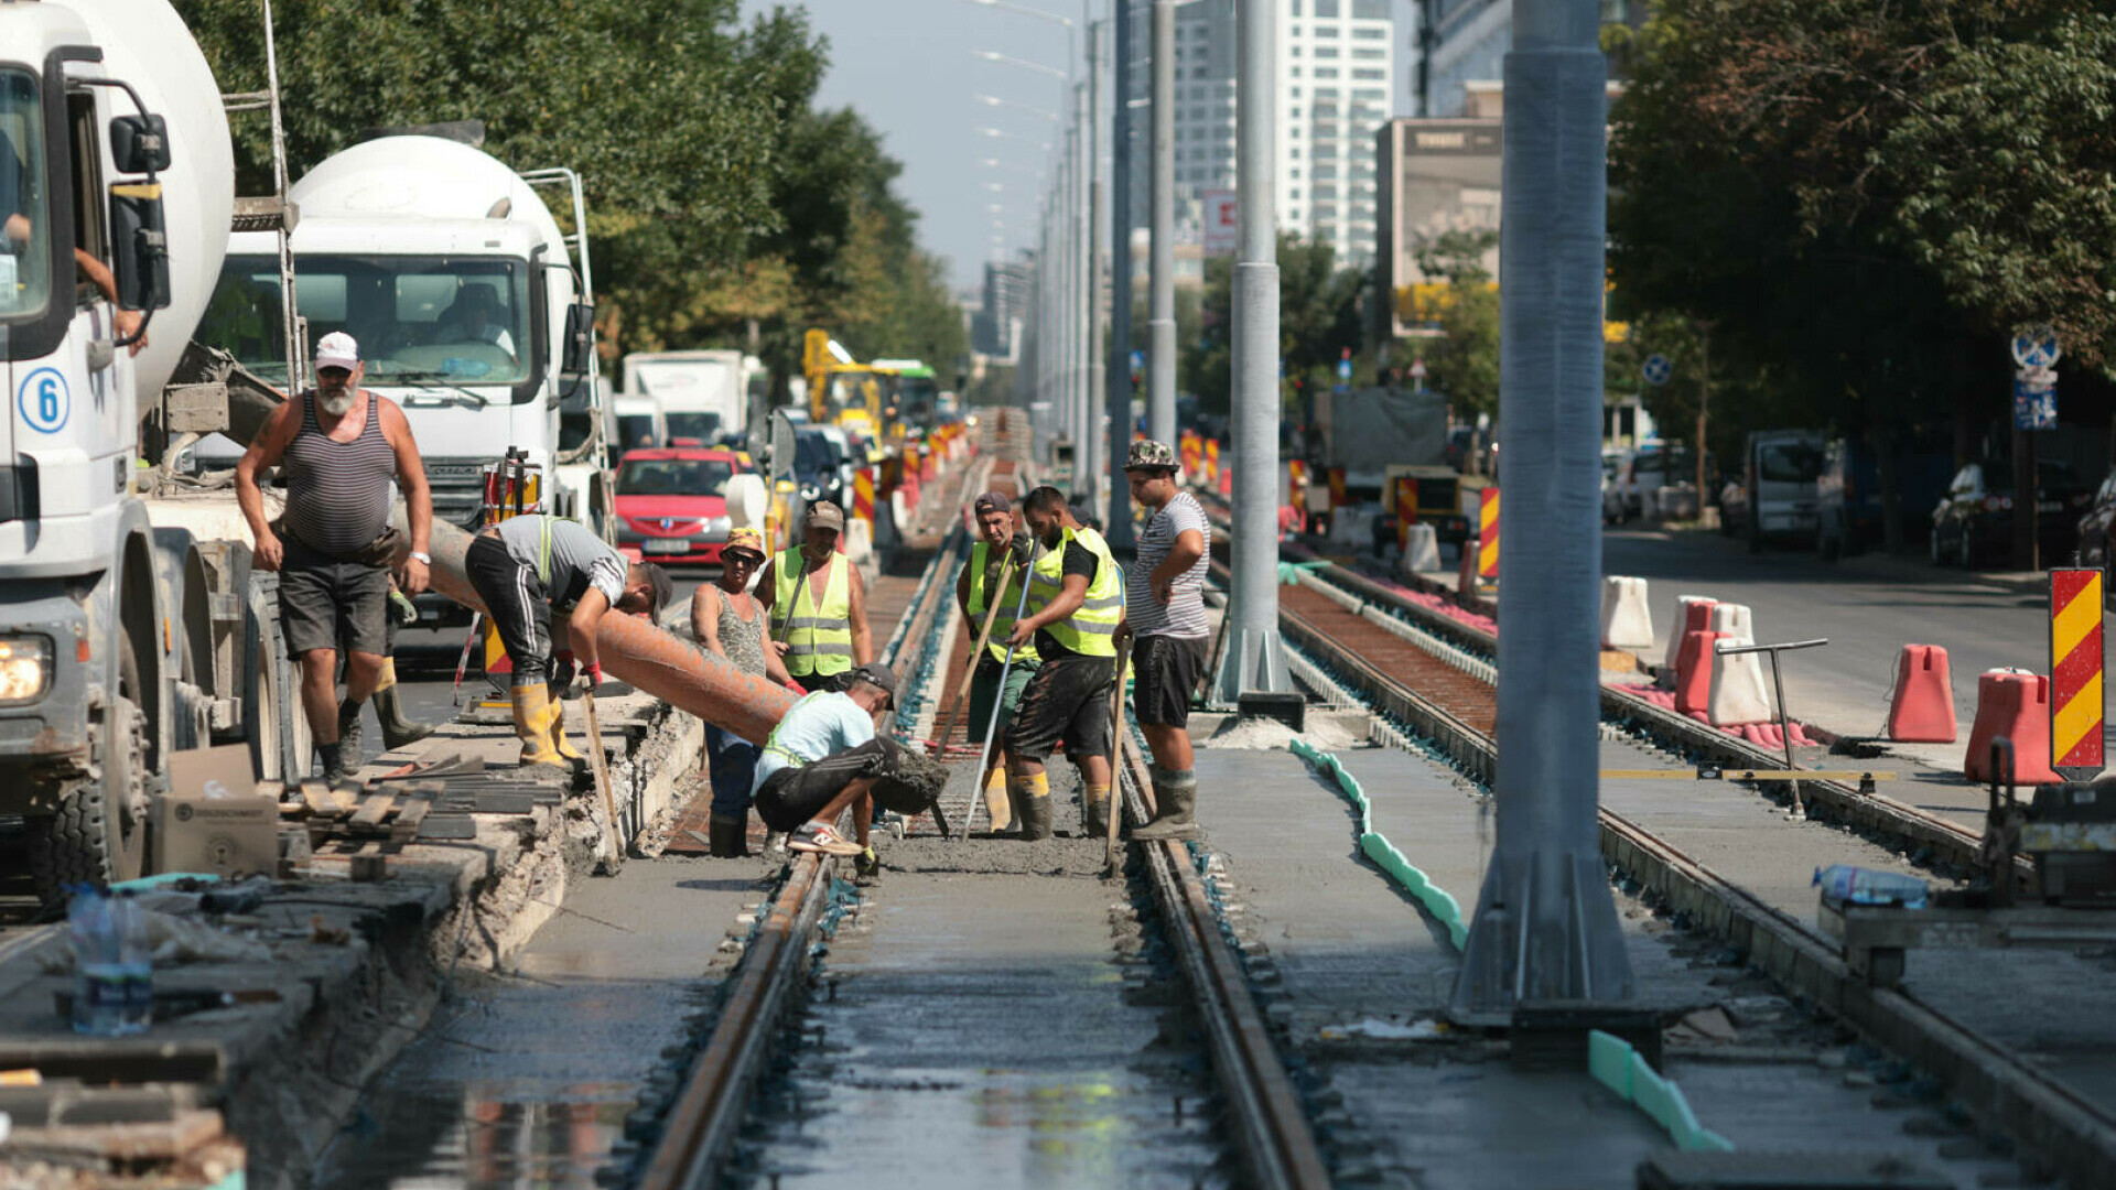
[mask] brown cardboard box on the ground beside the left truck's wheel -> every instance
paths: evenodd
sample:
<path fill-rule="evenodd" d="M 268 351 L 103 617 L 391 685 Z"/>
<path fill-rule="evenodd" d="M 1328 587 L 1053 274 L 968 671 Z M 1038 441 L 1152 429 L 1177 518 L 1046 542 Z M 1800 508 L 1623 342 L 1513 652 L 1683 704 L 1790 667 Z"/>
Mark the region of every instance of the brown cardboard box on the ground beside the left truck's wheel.
<path fill-rule="evenodd" d="M 171 752 L 169 794 L 154 803 L 154 870 L 273 875 L 279 798 L 256 790 L 248 743 Z"/>

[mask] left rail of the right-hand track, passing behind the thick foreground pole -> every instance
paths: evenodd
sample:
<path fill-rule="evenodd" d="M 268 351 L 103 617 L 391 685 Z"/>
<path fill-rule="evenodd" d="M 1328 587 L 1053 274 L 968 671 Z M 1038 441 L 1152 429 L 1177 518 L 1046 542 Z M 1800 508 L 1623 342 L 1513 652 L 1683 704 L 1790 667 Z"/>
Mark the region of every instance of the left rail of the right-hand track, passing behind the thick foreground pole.
<path fill-rule="evenodd" d="M 1498 750 L 1490 737 L 1462 726 L 1443 707 L 1350 654 L 1314 625 L 1291 612 L 1280 616 L 1287 635 L 1325 654 L 1350 684 L 1430 735 L 1466 771 L 1492 771 Z M 1428 731 L 1428 722 L 1441 724 L 1443 731 Z M 1959 1103 L 2006 1129 L 2023 1143 L 2023 1152 L 2036 1154 L 2033 1160 L 2044 1162 L 2067 1184 L 2101 1186 L 2116 1167 L 2116 1114 L 2048 1080 L 1998 1042 L 1917 999 L 1915 993 L 1868 985 L 1813 927 L 1765 904 L 1606 807 L 1600 809 L 1600 847 L 1610 864 L 1661 894 L 1672 908 L 1689 913 L 1703 930 L 1739 946 L 1748 955 L 1748 966 L 1807 995 L 1892 1052 L 1915 1057 Z"/>

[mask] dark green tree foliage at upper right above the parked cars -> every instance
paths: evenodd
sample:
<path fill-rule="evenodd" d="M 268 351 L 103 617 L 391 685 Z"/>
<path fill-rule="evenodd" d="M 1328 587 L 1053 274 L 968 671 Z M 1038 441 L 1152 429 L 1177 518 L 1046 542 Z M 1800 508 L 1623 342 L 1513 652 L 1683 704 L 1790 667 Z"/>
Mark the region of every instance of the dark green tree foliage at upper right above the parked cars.
<path fill-rule="evenodd" d="M 1621 49 L 1612 315 L 1714 326 L 1714 423 L 1991 417 L 2027 322 L 2116 364 L 2105 6 L 1663 0 Z"/>

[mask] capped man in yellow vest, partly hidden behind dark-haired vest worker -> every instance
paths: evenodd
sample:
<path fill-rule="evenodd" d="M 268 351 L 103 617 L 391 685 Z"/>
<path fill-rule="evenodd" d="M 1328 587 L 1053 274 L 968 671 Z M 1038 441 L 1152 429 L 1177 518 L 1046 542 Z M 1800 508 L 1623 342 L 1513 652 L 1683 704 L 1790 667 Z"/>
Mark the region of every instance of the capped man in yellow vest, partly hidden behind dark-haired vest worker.
<path fill-rule="evenodd" d="M 969 546 L 969 561 L 954 580 L 954 601 L 963 608 L 963 629 L 969 644 L 978 644 L 984 631 L 984 616 L 992 616 L 992 635 L 984 644 L 984 656 L 969 675 L 969 741 L 982 745 L 986 728 L 992 726 L 992 705 L 999 705 L 999 731 L 1014 722 L 1014 711 L 1022 703 L 1022 690 L 1035 675 L 1037 646 L 1026 644 L 1014 650 L 1007 665 L 1007 637 L 1014 633 L 1014 612 L 1022 606 L 1022 582 L 1035 548 L 1028 534 L 1014 523 L 1014 498 L 1005 491 L 986 491 L 975 504 L 978 542 Z M 1009 574 L 1001 589 L 1001 574 Z M 997 610 L 995 610 L 997 608 Z M 1005 671 L 1005 686 L 1001 686 Z M 1014 807 L 1007 800 L 1007 754 L 999 750 L 990 779 L 984 786 L 984 805 L 992 813 L 992 830 L 1005 830 L 1014 822 Z"/>

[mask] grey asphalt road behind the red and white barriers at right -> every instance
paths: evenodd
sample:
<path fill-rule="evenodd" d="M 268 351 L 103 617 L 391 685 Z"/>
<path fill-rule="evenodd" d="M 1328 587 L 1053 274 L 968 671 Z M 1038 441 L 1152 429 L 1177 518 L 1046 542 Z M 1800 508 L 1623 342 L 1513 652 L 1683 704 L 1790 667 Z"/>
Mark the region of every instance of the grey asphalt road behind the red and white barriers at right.
<path fill-rule="evenodd" d="M 1786 703 L 1794 718 L 1839 735 L 1881 731 L 1904 644 L 1947 648 L 1964 739 L 1976 718 L 1978 673 L 2050 669 L 2046 595 L 1978 582 L 1923 557 L 1826 563 L 1813 553 L 1750 555 L 1716 534 L 1608 529 L 1602 570 L 1648 580 L 1661 648 L 1678 595 L 1748 603 L 1758 644 L 1828 637 L 1826 648 L 1784 654 Z"/>

